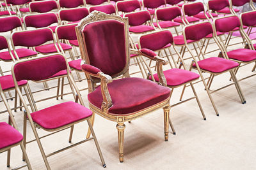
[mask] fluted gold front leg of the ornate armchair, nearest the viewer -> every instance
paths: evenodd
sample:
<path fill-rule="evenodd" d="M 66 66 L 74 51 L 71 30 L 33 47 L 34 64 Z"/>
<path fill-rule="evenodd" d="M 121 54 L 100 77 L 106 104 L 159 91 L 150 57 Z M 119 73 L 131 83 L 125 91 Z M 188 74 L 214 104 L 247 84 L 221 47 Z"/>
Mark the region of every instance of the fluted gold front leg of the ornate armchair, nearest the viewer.
<path fill-rule="evenodd" d="M 119 160 L 120 162 L 124 162 L 124 122 L 118 122 L 116 125 L 116 129 L 118 132 Z"/>

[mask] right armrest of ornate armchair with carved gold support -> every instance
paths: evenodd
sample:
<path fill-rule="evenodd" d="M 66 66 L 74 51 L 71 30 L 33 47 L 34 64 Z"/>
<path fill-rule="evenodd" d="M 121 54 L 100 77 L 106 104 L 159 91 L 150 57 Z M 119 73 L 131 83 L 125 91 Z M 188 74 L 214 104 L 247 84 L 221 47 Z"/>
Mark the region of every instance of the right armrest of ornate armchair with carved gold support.
<path fill-rule="evenodd" d="M 144 57 L 147 57 L 148 59 L 155 60 L 157 76 L 159 77 L 159 83 L 161 83 L 161 85 L 163 86 L 167 86 L 167 81 L 163 73 L 163 65 L 168 64 L 167 60 L 161 59 L 154 51 L 149 50 L 147 48 L 142 48 L 140 50 L 130 49 L 130 52 L 132 54 L 142 55 Z"/>

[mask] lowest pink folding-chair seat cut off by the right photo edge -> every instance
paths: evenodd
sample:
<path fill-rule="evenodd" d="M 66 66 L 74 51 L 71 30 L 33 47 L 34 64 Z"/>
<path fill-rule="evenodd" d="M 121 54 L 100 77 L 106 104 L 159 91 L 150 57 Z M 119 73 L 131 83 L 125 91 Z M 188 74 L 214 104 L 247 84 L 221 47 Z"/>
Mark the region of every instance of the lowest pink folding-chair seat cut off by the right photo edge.
<path fill-rule="evenodd" d="M 249 61 L 256 60 L 256 51 L 255 50 L 239 48 L 239 49 L 227 52 L 227 54 L 228 54 L 229 59 L 240 60 L 243 62 L 249 62 Z"/>

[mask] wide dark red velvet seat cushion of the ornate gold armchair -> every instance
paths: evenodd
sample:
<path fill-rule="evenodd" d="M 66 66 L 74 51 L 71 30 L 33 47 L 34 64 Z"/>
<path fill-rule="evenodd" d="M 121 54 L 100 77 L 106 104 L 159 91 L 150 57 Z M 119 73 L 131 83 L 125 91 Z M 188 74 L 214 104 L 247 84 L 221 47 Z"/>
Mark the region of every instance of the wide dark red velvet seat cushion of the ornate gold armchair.
<path fill-rule="evenodd" d="M 157 85 L 157 83 L 143 78 L 113 80 L 112 83 L 108 83 L 108 90 L 113 102 L 113 106 L 108 110 L 111 115 L 133 114 L 170 97 L 168 87 Z M 100 87 L 88 94 L 88 100 L 101 109 L 103 99 Z"/>

